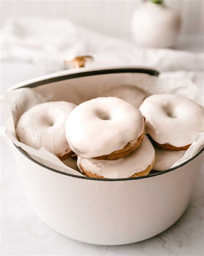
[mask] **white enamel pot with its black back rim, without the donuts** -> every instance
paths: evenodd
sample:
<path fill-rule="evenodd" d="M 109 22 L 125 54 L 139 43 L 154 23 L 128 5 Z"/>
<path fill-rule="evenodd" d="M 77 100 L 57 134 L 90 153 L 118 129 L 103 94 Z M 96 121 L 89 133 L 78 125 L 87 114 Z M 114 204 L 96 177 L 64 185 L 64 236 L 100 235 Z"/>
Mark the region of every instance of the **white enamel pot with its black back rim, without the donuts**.
<path fill-rule="evenodd" d="M 69 83 L 80 77 L 155 70 L 118 68 L 92 70 L 26 82 L 22 87 Z M 77 82 L 77 83 L 78 83 Z M 19 86 L 17 86 L 19 87 Z M 92 179 L 44 166 L 12 145 L 12 151 L 35 213 L 60 234 L 86 243 L 120 245 L 153 237 L 184 213 L 203 163 L 203 149 L 164 172 L 129 179 Z"/>

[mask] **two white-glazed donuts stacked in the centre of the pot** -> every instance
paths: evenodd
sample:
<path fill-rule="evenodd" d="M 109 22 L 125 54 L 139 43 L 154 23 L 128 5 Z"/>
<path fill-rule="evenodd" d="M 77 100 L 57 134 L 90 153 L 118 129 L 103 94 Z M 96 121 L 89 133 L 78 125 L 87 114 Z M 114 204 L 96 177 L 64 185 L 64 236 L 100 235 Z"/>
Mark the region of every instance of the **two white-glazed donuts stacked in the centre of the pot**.
<path fill-rule="evenodd" d="M 154 165 L 144 117 L 123 99 L 101 97 L 81 103 L 68 116 L 65 130 L 77 165 L 88 177 L 142 176 Z"/>

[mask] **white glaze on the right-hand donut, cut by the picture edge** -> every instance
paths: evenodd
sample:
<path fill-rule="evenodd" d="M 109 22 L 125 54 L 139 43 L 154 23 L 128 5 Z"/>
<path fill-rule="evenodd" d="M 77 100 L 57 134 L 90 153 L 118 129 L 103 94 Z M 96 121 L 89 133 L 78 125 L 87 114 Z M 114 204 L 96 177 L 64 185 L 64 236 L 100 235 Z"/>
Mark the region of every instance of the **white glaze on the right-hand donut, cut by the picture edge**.
<path fill-rule="evenodd" d="M 155 94 L 139 109 L 146 119 L 146 133 L 159 144 L 183 147 L 204 130 L 204 109 L 184 96 Z"/>

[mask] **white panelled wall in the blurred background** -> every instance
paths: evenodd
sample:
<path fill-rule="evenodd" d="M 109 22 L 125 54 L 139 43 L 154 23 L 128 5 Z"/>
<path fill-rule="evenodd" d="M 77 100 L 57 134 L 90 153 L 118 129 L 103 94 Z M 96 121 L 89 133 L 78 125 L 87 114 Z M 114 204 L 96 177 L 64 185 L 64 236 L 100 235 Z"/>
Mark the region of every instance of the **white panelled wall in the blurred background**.
<path fill-rule="evenodd" d="M 130 19 L 142 0 L 2 0 L 1 23 L 12 16 L 65 18 L 115 36 L 130 36 Z M 166 0 L 182 14 L 183 35 L 203 35 L 204 0 Z"/>

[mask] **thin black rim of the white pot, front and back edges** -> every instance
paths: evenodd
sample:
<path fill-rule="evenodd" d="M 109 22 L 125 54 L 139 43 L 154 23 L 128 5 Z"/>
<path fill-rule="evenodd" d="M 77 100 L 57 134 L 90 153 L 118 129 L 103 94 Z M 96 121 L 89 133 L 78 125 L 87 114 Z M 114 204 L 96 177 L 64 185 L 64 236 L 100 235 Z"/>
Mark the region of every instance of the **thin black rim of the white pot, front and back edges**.
<path fill-rule="evenodd" d="M 79 71 L 78 73 L 72 73 L 72 74 L 65 74 L 62 76 L 54 76 L 54 77 L 48 77 L 45 78 L 43 80 L 32 80 L 32 82 L 29 82 L 25 85 L 19 86 L 19 87 L 15 87 L 13 90 L 19 89 L 19 88 L 33 88 L 33 87 L 37 87 L 37 86 L 41 86 L 41 85 L 45 85 L 47 83 L 55 83 L 55 82 L 59 82 L 62 80 L 68 80 L 68 79 L 73 79 L 73 78 L 79 78 L 79 77 L 87 77 L 87 76 L 93 76 L 93 75 L 101 75 L 101 74 L 117 74 L 117 73 L 143 73 L 143 74 L 149 74 L 152 76 L 158 76 L 159 72 L 157 70 L 153 70 L 153 69 L 149 69 L 149 68 L 140 68 L 140 67 L 117 67 L 117 68 L 108 68 L 108 69 L 96 69 L 96 70 L 90 70 L 90 71 Z M 14 143 L 13 143 L 14 144 Z M 164 170 L 164 171 L 158 171 L 157 173 L 151 173 L 148 176 L 139 176 L 139 177 L 133 177 L 133 178 L 120 178 L 120 179 L 100 179 L 100 178 L 90 178 L 87 176 L 78 176 L 78 175 L 74 175 L 74 174 L 70 174 L 70 173 L 64 173 L 62 171 L 50 168 L 36 160 L 34 160 L 32 157 L 30 157 L 24 150 L 22 150 L 21 147 L 18 147 L 14 144 L 14 146 L 17 148 L 17 150 L 19 150 L 19 152 L 24 155 L 28 160 L 31 160 L 33 163 L 36 163 L 37 165 L 53 171 L 55 173 L 59 173 L 65 176 L 70 176 L 73 178 L 79 178 L 79 179 L 88 179 L 88 180 L 98 180 L 98 181 L 125 181 L 125 180 L 135 180 L 135 179 L 147 179 L 150 177 L 154 177 L 154 176 L 158 176 L 158 175 L 162 175 L 164 173 L 168 173 L 170 171 L 179 169 L 179 167 L 184 166 L 188 163 L 190 163 L 192 160 L 194 160 L 195 158 L 197 158 L 203 151 L 204 151 L 204 147 L 201 148 L 201 150 L 198 151 L 197 154 L 195 154 L 193 157 L 191 157 L 189 160 L 179 164 L 178 166 L 175 166 L 173 168 Z M 71 168 L 71 167 L 70 167 Z"/>

